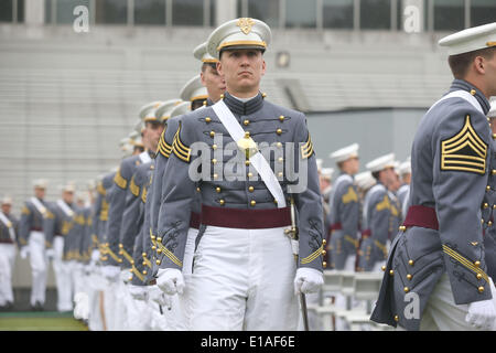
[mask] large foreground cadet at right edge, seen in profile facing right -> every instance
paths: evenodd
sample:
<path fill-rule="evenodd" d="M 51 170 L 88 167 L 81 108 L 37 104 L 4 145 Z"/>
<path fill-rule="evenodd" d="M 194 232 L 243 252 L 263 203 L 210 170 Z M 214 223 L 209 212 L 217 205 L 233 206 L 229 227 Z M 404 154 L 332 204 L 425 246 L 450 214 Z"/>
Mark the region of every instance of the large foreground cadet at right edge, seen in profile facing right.
<path fill-rule="evenodd" d="M 481 205 L 493 192 L 486 114 L 496 95 L 496 22 L 439 43 L 455 79 L 417 130 L 409 208 L 371 320 L 406 330 L 494 330 Z"/>

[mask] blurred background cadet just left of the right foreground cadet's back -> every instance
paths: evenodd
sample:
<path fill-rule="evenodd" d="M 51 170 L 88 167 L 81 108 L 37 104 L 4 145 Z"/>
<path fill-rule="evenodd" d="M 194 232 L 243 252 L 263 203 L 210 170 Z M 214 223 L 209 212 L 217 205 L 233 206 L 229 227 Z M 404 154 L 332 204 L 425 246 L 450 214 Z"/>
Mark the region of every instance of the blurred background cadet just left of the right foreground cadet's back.
<path fill-rule="evenodd" d="M 396 178 L 395 154 L 379 157 L 367 163 L 366 168 L 377 184 L 367 192 L 364 201 L 358 266 L 364 271 L 379 271 L 388 256 L 391 202 L 387 188 Z"/>

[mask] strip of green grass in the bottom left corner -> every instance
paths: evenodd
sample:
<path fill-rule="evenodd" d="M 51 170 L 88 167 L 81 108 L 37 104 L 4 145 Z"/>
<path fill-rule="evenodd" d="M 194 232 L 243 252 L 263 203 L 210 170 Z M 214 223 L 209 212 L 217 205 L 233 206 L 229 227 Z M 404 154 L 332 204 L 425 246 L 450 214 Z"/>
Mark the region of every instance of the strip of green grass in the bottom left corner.
<path fill-rule="evenodd" d="M 73 313 L 56 311 L 0 312 L 0 331 L 88 331 Z"/>

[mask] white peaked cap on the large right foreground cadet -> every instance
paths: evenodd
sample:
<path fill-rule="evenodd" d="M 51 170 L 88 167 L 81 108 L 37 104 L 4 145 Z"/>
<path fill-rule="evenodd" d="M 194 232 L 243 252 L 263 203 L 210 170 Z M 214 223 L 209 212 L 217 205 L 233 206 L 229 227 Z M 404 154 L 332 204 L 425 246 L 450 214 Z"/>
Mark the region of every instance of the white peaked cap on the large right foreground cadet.
<path fill-rule="evenodd" d="M 496 22 L 450 34 L 442 38 L 438 44 L 448 47 L 449 55 L 496 46 Z"/>

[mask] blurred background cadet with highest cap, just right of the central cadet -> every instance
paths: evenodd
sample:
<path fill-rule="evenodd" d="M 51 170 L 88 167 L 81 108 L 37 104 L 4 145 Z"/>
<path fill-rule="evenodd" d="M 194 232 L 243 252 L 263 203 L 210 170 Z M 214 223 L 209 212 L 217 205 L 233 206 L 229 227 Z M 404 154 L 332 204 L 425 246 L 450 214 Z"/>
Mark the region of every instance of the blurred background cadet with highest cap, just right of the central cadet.
<path fill-rule="evenodd" d="M 328 201 L 331 214 L 332 267 L 355 270 L 358 248 L 359 203 L 353 175 L 358 172 L 358 143 L 342 148 L 330 156 L 336 161 L 341 174 L 334 181 Z"/>

